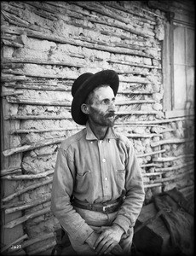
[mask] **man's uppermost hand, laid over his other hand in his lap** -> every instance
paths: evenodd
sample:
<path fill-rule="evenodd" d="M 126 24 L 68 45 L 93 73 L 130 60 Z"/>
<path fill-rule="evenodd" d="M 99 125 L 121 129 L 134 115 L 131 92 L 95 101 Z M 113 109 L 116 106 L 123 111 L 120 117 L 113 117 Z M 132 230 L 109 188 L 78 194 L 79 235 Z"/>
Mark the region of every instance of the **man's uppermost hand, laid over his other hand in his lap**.
<path fill-rule="evenodd" d="M 95 241 L 94 249 L 98 255 L 101 255 L 110 253 L 113 247 L 118 245 L 124 230 L 117 224 L 113 224 L 111 227 L 101 227 L 96 232 L 100 233 L 100 236 Z"/>

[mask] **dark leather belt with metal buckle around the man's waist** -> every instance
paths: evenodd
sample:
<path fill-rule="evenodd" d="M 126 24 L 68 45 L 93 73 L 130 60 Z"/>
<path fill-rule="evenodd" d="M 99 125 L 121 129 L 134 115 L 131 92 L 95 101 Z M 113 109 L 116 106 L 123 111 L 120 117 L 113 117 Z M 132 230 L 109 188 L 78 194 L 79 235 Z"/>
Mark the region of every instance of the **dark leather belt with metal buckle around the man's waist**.
<path fill-rule="evenodd" d="M 117 212 L 122 203 L 122 198 L 120 198 L 116 203 L 113 203 L 112 205 L 110 205 L 111 201 L 106 203 L 89 204 L 74 199 L 72 201 L 72 206 L 94 212 L 112 213 Z"/>

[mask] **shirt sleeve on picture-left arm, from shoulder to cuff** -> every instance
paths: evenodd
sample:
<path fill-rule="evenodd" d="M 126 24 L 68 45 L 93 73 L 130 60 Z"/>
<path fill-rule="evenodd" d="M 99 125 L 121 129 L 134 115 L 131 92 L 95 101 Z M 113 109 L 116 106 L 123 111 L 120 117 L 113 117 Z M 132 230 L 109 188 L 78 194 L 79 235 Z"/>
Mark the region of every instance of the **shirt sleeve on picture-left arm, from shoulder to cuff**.
<path fill-rule="evenodd" d="M 51 193 L 51 211 L 72 239 L 81 244 L 94 231 L 71 205 L 75 168 L 67 151 L 59 148 Z"/>

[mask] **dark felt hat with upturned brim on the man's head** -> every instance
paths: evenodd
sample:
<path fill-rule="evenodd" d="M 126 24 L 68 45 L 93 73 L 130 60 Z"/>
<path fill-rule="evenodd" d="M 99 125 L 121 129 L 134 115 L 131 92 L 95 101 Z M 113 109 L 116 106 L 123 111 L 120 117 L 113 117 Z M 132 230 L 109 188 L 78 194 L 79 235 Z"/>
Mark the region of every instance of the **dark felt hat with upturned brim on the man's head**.
<path fill-rule="evenodd" d="M 88 119 L 87 115 L 81 111 L 81 105 L 85 102 L 89 92 L 95 87 L 108 84 L 113 90 L 114 96 L 118 92 L 119 79 L 118 74 L 113 70 L 103 70 L 98 73 L 84 73 L 72 84 L 72 119 L 78 125 L 85 125 Z"/>

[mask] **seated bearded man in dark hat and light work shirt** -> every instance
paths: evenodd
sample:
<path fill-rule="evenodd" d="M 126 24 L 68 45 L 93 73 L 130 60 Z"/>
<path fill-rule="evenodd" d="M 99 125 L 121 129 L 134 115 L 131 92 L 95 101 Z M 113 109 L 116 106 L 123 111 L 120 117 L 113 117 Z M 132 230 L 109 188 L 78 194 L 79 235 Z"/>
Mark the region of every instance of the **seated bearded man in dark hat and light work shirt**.
<path fill-rule="evenodd" d="M 77 254 L 129 254 L 144 201 L 132 144 L 112 128 L 118 74 L 84 73 L 72 85 L 72 119 L 86 125 L 61 143 L 51 210 Z"/>

